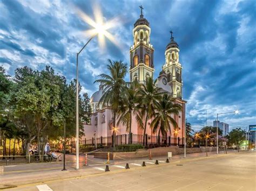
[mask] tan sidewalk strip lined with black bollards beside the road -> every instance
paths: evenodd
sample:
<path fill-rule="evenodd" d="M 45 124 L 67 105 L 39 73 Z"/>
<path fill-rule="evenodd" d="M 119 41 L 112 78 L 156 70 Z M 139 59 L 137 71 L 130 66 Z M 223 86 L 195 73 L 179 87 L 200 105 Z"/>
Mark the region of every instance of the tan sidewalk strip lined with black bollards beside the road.
<path fill-rule="evenodd" d="M 235 154 L 237 152 L 224 154 L 220 153 L 219 155 L 216 152 L 208 153 L 208 157 L 206 157 L 206 153 L 193 153 L 187 154 L 187 158 L 184 159 L 184 155 L 176 155 L 174 156 L 169 164 L 165 163 L 166 157 L 158 158 L 160 165 L 172 165 L 172 164 L 180 164 L 181 162 L 193 161 L 193 160 L 201 160 L 201 159 L 210 159 L 214 157 L 225 157 L 226 155 Z M 4 173 L 0 175 L 0 188 L 6 187 L 4 185 L 14 185 L 20 186 L 29 183 L 35 182 L 45 182 L 45 181 L 53 181 L 53 180 L 64 180 L 70 178 L 76 178 L 81 176 L 93 176 L 96 174 L 105 173 L 105 162 L 106 160 L 97 159 L 94 160 L 92 156 L 89 157 L 91 162 L 89 162 L 88 166 L 83 166 L 82 161 L 80 161 L 80 169 L 75 170 L 75 163 L 68 162 L 66 169 L 68 171 L 61 171 L 63 169 L 63 163 L 43 163 L 43 164 L 28 164 L 28 165 L 13 165 L 13 166 L 5 166 Z M 110 161 L 109 168 L 111 172 L 117 171 L 126 171 L 125 165 L 129 163 L 130 171 L 136 170 L 142 167 L 142 162 L 146 162 L 146 166 L 148 167 L 156 167 L 154 165 L 156 158 L 153 160 L 147 159 L 137 159 L 137 160 L 119 160 L 119 161 Z M 108 173 L 111 173 L 108 172 Z"/>

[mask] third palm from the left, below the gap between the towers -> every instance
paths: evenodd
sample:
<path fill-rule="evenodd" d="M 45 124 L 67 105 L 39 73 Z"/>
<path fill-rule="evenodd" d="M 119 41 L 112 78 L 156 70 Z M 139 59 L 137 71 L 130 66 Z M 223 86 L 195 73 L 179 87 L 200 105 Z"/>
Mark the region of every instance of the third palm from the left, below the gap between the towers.
<path fill-rule="evenodd" d="M 154 115 L 154 107 L 157 100 L 161 97 L 160 88 L 156 86 L 157 80 L 152 79 L 152 77 L 147 78 L 145 84 L 141 84 L 138 91 L 138 99 L 140 101 L 139 107 L 141 108 L 141 114 L 145 117 L 144 132 L 143 132 L 143 145 L 145 145 L 145 135 L 147 120 L 152 118 Z M 140 124 L 139 124 L 140 125 Z"/>

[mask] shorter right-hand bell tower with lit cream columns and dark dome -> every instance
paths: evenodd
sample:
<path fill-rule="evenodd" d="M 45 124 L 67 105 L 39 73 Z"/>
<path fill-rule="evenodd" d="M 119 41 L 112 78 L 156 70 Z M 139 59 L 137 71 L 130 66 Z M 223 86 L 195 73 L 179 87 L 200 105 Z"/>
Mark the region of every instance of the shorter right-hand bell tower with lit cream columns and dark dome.
<path fill-rule="evenodd" d="M 173 97 L 182 99 L 182 86 L 181 80 L 181 63 L 179 62 L 179 45 L 174 41 L 174 37 L 171 33 L 171 41 L 166 46 L 165 51 L 165 64 L 163 70 L 167 75 L 167 83 L 171 86 L 171 92 Z"/>

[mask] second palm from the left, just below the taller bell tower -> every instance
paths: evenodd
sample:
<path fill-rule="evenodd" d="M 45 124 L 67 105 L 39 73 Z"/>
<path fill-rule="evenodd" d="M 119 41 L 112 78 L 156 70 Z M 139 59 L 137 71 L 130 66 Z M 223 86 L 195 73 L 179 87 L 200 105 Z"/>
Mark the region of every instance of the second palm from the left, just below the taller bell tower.
<path fill-rule="evenodd" d="M 126 125 L 126 131 L 129 132 L 128 144 L 131 144 L 131 129 L 132 129 L 132 115 L 136 116 L 137 122 L 140 124 L 139 126 L 143 126 L 143 122 L 141 120 L 139 107 L 138 106 L 138 98 L 137 98 L 137 88 L 138 83 L 130 83 L 128 87 L 126 87 L 125 92 L 122 96 L 122 104 L 118 109 L 118 122 Z"/>

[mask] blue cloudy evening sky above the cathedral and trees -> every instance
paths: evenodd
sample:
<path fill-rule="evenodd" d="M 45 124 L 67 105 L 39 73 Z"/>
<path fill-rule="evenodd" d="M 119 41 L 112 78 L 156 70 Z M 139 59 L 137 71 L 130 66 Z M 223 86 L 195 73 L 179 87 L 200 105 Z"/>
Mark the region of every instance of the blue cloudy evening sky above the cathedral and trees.
<path fill-rule="evenodd" d="M 154 77 L 165 63 L 170 33 L 180 48 L 186 117 L 195 130 L 213 125 L 217 113 L 230 129 L 256 124 L 256 1 L 89 1 L 0 0 L 0 65 L 14 75 L 17 67 L 35 70 L 50 65 L 69 81 L 76 77 L 76 53 L 92 27 L 80 12 L 95 20 L 100 8 L 114 43 L 100 46 L 93 38 L 79 55 L 79 81 L 83 93 L 98 90 L 97 75 L 107 73 L 107 59 L 129 66 L 133 24 L 150 22 L 154 47 Z M 129 74 L 126 75 L 129 81 Z"/>

